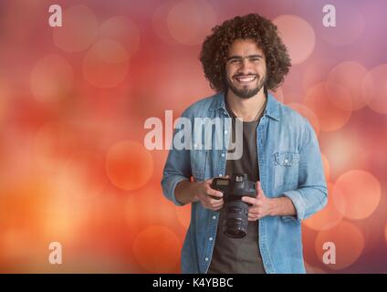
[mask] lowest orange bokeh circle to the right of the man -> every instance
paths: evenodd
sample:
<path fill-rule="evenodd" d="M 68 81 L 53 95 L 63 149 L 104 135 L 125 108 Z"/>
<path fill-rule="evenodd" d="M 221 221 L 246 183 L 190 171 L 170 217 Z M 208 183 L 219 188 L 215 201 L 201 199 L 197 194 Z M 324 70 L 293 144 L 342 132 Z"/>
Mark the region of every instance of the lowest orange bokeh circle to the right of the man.
<path fill-rule="evenodd" d="M 336 252 L 336 263 L 325 266 L 340 270 L 352 265 L 359 258 L 364 248 L 364 237 L 358 227 L 345 221 L 329 230 L 320 231 L 316 237 L 315 250 L 322 263 L 324 263 L 323 255 L 333 251 L 324 250 L 325 243 L 333 243 Z"/>

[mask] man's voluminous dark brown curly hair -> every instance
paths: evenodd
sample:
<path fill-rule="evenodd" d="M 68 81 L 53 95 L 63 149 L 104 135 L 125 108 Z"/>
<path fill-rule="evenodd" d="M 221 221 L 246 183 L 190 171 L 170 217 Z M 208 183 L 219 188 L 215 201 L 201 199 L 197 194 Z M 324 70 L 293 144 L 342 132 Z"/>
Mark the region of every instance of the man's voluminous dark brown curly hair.
<path fill-rule="evenodd" d="M 204 40 L 200 61 L 204 76 L 216 91 L 225 91 L 225 62 L 228 50 L 237 38 L 256 41 L 266 57 L 266 89 L 275 90 L 284 81 L 291 66 L 287 47 L 278 36 L 277 26 L 257 14 L 235 16 L 221 26 L 214 26 L 212 34 Z"/>

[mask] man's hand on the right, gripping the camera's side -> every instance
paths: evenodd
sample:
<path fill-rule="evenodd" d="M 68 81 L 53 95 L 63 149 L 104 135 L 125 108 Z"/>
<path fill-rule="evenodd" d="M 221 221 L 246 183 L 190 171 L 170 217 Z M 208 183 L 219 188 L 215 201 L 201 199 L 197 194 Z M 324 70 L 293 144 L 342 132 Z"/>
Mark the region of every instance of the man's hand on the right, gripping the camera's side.
<path fill-rule="evenodd" d="M 242 197 L 242 201 L 251 203 L 248 207 L 248 221 L 256 221 L 267 215 L 272 215 L 272 199 L 267 198 L 264 191 L 261 189 L 261 183 L 256 182 L 256 197 Z"/>

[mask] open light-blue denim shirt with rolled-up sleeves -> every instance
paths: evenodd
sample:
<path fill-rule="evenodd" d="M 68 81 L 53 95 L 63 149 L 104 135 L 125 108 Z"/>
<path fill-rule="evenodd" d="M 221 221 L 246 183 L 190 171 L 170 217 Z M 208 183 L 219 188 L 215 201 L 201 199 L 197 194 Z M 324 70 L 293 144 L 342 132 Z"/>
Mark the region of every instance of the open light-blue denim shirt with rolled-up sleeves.
<path fill-rule="evenodd" d="M 195 102 L 183 117 L 220 118 L 224 145 L 230 139 L 230 119 L 225 110 L 225 94 Z M 184 127 L 175 125 L 174 135 Z M 191 149 L 172 147 L 163 170 L 162 191 L 181 206 L 174 190 L 183 180 L 197 182 L 225 175 L 227 147 L 197 149 L 197 135 Z M 267 197 L 287 196 L 295 216 L 266 216 L 259 219 L 259 248 L 267 273 L 305 273 L 301 221 L 327 203 L 327 183 L 319 151 L 319 141 L 309 124 L 295 110 L 267 96 L 267 108 L 256 128 L 256 145 L 261 187 Z M 191 223 L 182 249 L 182 273 L 207 273 L 214 251 L 219 212 L 191 203 Z"/>

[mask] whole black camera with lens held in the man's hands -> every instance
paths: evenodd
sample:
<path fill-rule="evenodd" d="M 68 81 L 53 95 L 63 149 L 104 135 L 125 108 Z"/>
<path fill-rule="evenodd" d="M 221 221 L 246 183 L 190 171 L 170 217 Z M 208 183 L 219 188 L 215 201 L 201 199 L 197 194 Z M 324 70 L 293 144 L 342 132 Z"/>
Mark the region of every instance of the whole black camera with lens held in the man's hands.
<path fill-rule="evenodd" d="M 246 173 L 235 173 L 231 179 L 214 178 L 211 188 L 224 194 L 225 220 L 224 233 L 233 238 L 247 234 L 248 206 L 243 196 L 256 197 L 256 183 L 248 181 Z"/>

